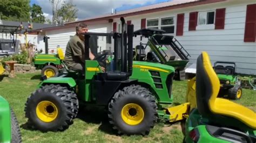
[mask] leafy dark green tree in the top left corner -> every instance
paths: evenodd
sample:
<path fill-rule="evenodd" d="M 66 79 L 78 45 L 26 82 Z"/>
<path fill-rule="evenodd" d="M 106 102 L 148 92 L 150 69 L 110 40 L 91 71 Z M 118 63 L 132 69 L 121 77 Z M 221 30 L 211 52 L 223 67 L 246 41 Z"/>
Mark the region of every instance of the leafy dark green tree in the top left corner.
<path fill-rule="evenodd" d="M 24 21 L 30 20 L 30 0 L 1 0 L 0 13 L 3 20 Z"/>

